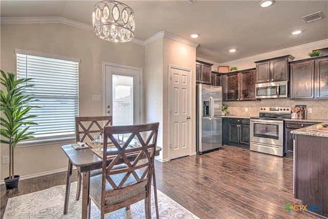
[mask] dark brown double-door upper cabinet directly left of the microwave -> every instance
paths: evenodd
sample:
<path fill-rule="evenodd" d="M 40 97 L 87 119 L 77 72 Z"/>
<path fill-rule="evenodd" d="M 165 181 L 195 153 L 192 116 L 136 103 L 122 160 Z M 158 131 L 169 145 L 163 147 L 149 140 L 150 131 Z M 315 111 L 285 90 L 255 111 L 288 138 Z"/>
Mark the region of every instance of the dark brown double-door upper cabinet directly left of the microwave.
<path fill-rule="evenodd" d="M 255 101 L 255 69 L 224 74 L 222 81 L 223 101 Z"/>

